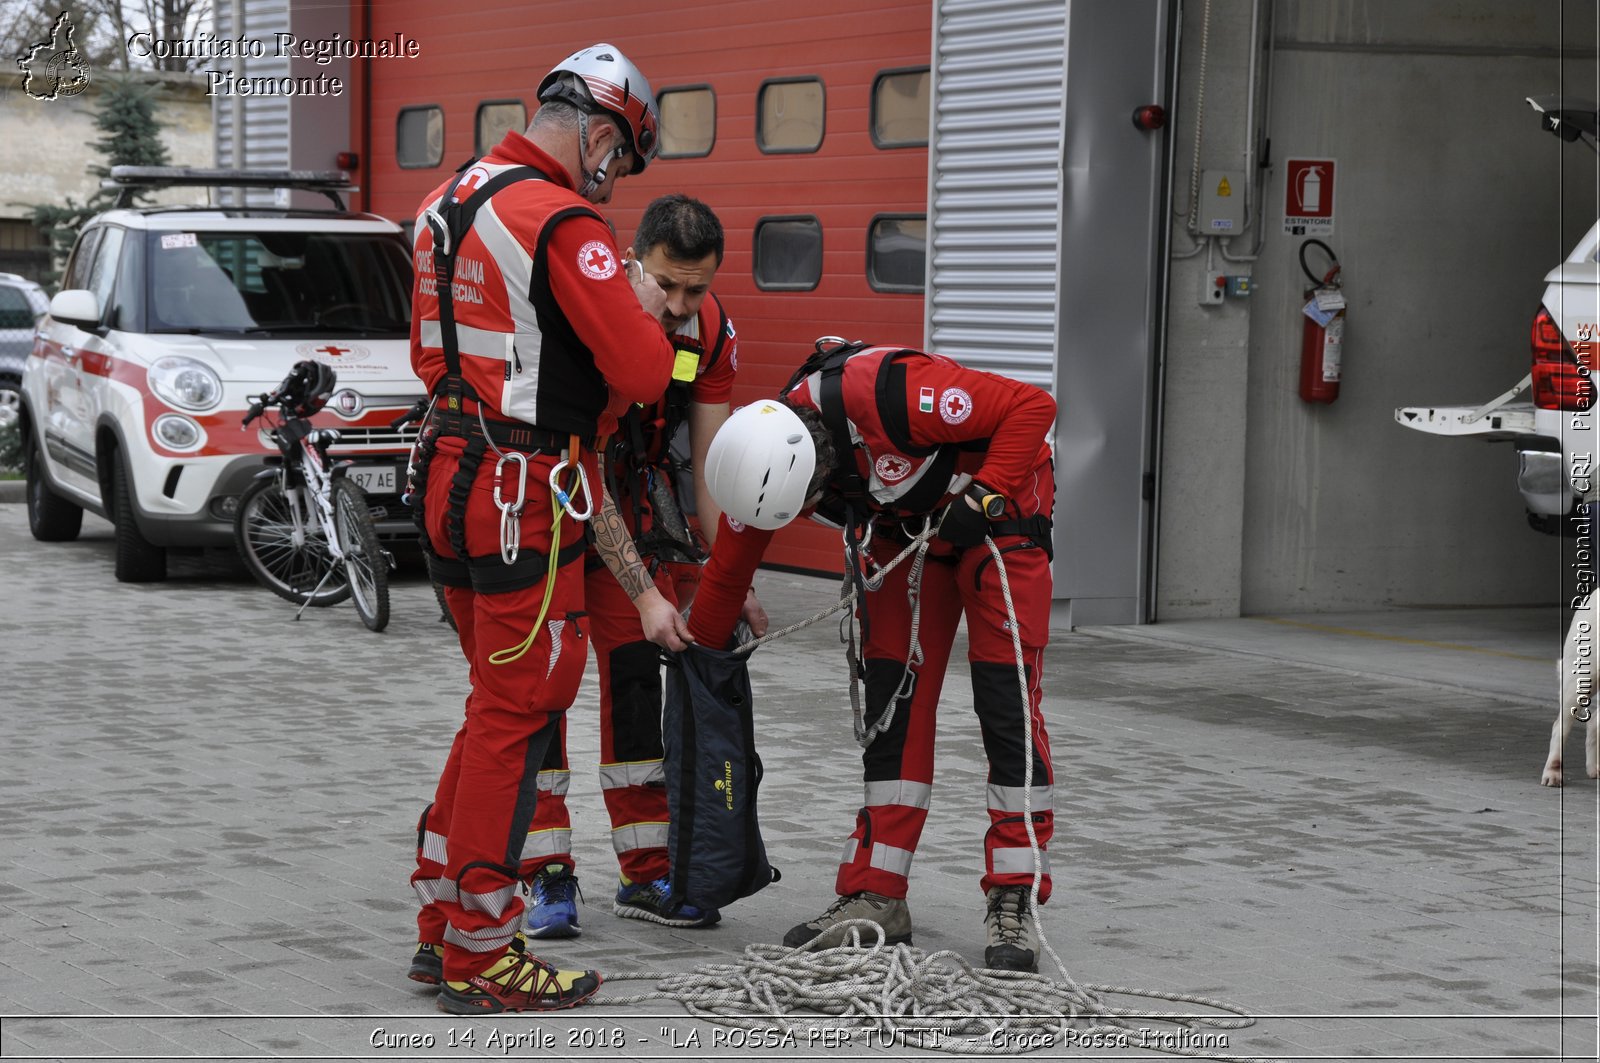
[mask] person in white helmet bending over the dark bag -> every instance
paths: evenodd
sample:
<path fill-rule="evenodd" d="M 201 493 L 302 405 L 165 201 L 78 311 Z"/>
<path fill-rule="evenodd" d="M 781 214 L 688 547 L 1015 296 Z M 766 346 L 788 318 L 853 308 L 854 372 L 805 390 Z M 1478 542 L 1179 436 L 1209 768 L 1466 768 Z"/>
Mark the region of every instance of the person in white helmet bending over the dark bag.
<path fill-rule="evenodd" d="M 701 580 L 690 634 L 728 642 L 750 575 L 773 530 L 802 509 L 861 538 L 870 565 L 885 565 L 933 515 L 939 538 L 920 588 L 920 624 L 907 596 L 910 564 L 866 591 L 858 616 L 866 666 L 866 724 L 891 720 L 866 748 L 866 797 L 845 847 L 835 900 L 784 945 L 822 937 L 837 924 L 872 919 L 891 943 L 910 941 L 906 892 L 933 791 L 934 711 L 955 628 L 965 613 L 973 703 L 989 759 L 984 836 L 987 967 L 1037 970 L 1038 938 L 1029 889 L 1034 852 L 1024 812 L 1045 850 L 1053 828 L 1050 740 L 1040 712 L 1040 671 L 1050 639 L 1050 528 L 1054 501 L 1051 432 L 1056 403 L 1005 376 L 918 351 L 827 341 L 794 376 L 782 402 L 758 402 L 723 426 L 706 479 L 725 525 Z M 963 475 L 966 474 L 966 475 Z M 968 480 L 970 477 L 970 480 Z M 1027 677 L 1024 701 L 1000 572 L 1005 562 Z M 920 626 L 922 664 L 907 664 Z M 909 698 L 907 698 L 909 692 Z M 1024 786 L 1026 727 L 1032 727 L 1032 788 Z M 1050 858 L 1040 852 L 1038 900 L 1050 898 Z"/>

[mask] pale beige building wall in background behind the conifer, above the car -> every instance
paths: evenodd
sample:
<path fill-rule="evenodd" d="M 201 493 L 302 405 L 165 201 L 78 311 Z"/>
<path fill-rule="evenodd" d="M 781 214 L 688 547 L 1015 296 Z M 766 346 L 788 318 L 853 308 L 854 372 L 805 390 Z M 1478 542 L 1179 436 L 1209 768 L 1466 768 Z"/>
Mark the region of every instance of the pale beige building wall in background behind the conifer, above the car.
<path fill-rule="evenodd" d="M 70 195 L 83 202 L 99 189 L 90 166 L 106 165 L 94 150 L 101 93 L 112 72 L 91 70 L 90 85 L 77 96 L 34 99 L 22 91 L 19 74 L 0 75 L 0 218 L 26 218 L 27 205 L 59 203 Z M 155 88 L 162 141 L 174 166 L 210 166 L 211 102 L 195 74 L 139 72 Z M 203 203 L 205 191 L 171 189 L 155 197 L 163 203 Z"/>

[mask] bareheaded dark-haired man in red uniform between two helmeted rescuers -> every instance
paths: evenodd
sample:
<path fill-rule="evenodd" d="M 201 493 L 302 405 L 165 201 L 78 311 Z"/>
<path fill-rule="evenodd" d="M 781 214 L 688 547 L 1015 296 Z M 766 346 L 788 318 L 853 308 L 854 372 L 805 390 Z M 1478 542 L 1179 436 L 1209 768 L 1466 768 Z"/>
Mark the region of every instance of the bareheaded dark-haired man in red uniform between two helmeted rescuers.
<path fill-rule="evenodd" d="M 627 532 L 646 560 L 661 594 L 678 605 L 672 565 L 702 560 L 678 499 L 686 469 L 669 455 L 669 443 L 685 429 L 693 469 L 694 509 L 715 535 L 720 515 L 706 490 L 704 458 L 712 437 L 728 419 L 728 399 L 738 368 L 733 323 L 710 283 L 722 266 L 723 231 L 717 215 L 686 195 L 662 195 L 645 208 L 626 258 L 650 274 L 666 293 L 662 317 L 677 357 L 693 379 L 674 381 L 666 397 L 634 407 L 622 418 L 602 456 L 606 487 Z M 670 927 L 707 927 L 715 909 L 667 906 L 667 791 L 661 768 L 661 648 L 650 642 L 640 615 L 602 559 L 584 562 L 584 594 L 600 672 L 600 786 L 611 816 L 611 844 L 621 866 L 613 911 Z M 562 736 L 565 738 L 565 728 Z M 552 744 L 546 762 L 549 792 L 563 802 L 568 762 L 565 743 Z M 562 807 L 565 816 L 565 805 Z M 566 820 L 563 818 L 563 823 Z M 579 933 L 574 895 L 578 879 L 566 863 L 546 864 L 533 884 L 528 937 L 565 938 Z"/>

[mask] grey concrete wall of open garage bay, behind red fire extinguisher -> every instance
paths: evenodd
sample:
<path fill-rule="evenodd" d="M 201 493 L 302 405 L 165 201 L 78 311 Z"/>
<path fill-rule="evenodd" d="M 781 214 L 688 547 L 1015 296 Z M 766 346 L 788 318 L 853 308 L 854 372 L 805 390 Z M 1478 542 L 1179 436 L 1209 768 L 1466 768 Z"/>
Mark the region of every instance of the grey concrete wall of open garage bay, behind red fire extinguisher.
<path fill-rule="evenodd" d="M 1203 6 L 1186 11 L 1182 187 Z M 1211 3 L 1203 168 L 1242 165 L 1250 8 Z M 1411 432 L 1392 411 L 1485 402 L 1528 371 L 1542 275 L 1595 218 L 1595 155 L 1542 133 L 1523 99 L 1594 96 L 1594 10 L 1278 0 L 1272 14 L 1264 242 L 1227 266 L 1254 293 L 1200 309 L 1205 255 L 1173 264 L 1158 616 L 1552 600 L 1558 543 L 1526 527 L 1512 447 Z M 1302 237 L 1282 231 L 1282 160 L 1304 155 L 1339 166 L 1326 242 L 1350 309 L 1331 407 L 1296 394 Z"/>

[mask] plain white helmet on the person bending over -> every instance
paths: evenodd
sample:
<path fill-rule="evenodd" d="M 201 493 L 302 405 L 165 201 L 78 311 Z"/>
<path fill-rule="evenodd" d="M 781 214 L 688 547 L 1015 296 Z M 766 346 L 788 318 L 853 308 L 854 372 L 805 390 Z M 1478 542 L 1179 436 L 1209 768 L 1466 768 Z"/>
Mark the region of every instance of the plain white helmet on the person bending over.
<path fill-rule="evenodd" d="M 816 445 L 776 399 L 739 407 L 706 455 L 706 487 L 739 523 L 773 532 L 800 515 L 816 471 Z"/>

